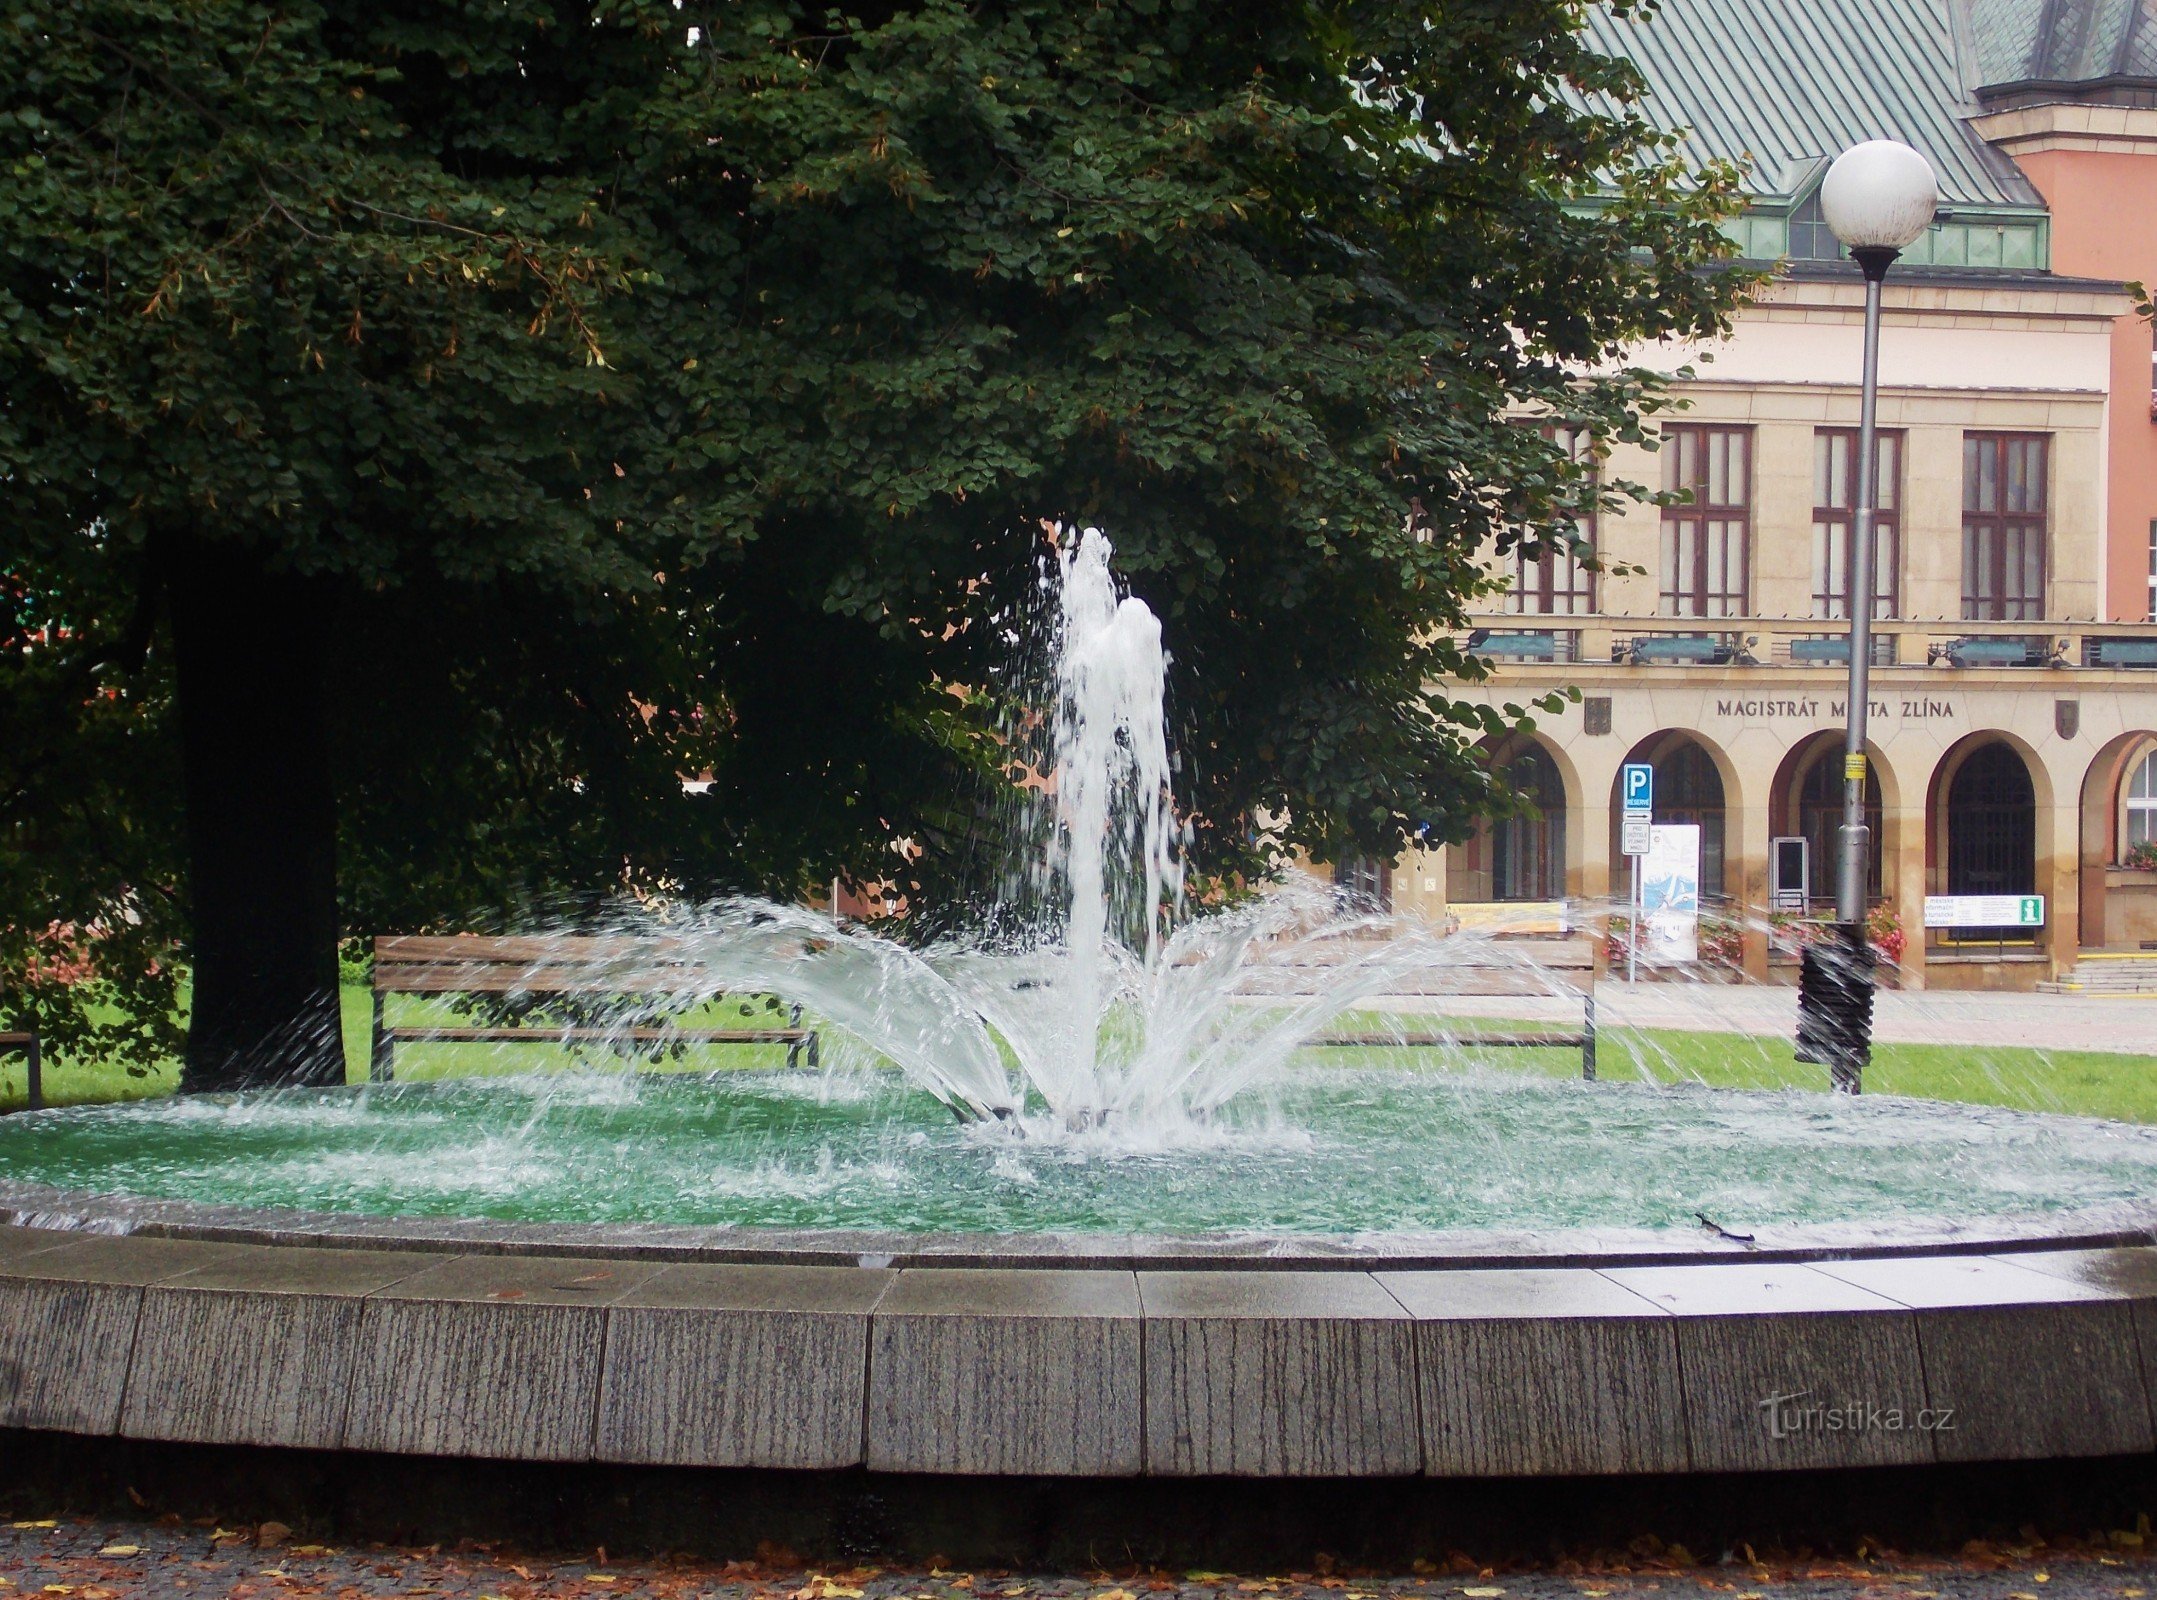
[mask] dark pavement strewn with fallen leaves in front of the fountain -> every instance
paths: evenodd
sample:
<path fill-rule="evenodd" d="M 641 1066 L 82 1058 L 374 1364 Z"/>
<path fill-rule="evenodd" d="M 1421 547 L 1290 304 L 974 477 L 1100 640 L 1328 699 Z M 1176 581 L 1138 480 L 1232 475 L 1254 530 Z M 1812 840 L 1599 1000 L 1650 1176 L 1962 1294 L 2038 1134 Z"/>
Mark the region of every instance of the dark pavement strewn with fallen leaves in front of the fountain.
<path fill-rule="evenodd" d="M 2157 1561 L 2135 1531 L 2103 1542 L 1982 1544 L 1954 1557 L 1864 1550 L 1818 1559 L 1749 1548 L 1695 1559 L 1652 1537 L 1536 1570 L 1478 1568 L 1467 1557 L 1413 1572 L 956 1572 L 945 1568 L 807 1570 L 766 1561 L 608 1559 L 606 1550 L 535 1557 L 500 1546 L 421 1550 L 308 1544 L 278 1522 L 257 1529 L 56 1518 L 0 1525 L 0 1600 L 2142 1600 Z"/>

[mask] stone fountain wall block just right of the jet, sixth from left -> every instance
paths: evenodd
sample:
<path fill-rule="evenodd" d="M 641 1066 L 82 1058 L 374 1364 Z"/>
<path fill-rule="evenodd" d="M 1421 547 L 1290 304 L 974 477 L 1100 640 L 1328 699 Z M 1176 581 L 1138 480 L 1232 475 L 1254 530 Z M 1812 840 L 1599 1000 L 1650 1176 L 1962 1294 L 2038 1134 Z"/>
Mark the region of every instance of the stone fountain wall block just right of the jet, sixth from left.
<path fill-rule="evenodd" d="M 1145 1471 L 1421 1471 L 1415 1324 L 1368 1272 L 1141 1272 Z"/>

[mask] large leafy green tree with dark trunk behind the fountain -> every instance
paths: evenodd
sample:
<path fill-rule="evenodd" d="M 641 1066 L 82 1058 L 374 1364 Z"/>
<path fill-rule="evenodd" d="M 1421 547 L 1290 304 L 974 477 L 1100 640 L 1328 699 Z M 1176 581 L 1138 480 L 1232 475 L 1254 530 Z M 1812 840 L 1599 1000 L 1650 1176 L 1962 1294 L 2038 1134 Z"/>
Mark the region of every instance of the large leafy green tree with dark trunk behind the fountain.
<path fill-rule="evenodd" d="M 1519 418 L 1637 433 L 1743 287 L 1579 19 L 0 6 L 11 690 L 177 750 L 99 882 L 181 906 L 188 1082 L 341 1074 L 339 884 L 932 891 L 1044 520 L 1167 619 L 1201 865 L 1462 837 L 1478 554 L 1635 492 Z"/>

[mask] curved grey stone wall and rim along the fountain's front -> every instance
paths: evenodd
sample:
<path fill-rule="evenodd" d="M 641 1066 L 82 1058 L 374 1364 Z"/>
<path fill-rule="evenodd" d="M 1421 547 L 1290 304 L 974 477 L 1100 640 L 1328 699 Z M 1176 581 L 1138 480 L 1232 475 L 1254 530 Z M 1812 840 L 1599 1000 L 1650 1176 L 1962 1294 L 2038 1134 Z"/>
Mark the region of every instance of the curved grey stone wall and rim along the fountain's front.
<path fill-rule="evenodd" d="M 0 1427 L 1059 1477 L 2153 1447 L 2157 1249 L 1204 1272 L 667 1266 L 0 1227 Z"/>

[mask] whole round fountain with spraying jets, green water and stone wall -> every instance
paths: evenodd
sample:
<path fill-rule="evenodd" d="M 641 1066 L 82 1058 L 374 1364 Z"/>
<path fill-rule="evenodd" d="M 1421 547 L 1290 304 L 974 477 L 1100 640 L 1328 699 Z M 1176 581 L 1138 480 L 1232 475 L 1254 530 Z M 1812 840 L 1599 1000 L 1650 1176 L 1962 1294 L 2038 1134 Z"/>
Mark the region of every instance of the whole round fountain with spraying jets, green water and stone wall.
<path fill-rule="evenodd" d="M 2157 1266 L 2110 1246 L 2153 1238 L 2157 1130 L 1711 1091 L 1652 1059 L 1633 1082 L 1501 1072 L 1475 1018 L 1398 996 L 1460 964 L 1531 979 L 1531 944 L 1314 888 L 1184 904 L 1160 623 L 1098 530 L 1046 587 L 1050 826 L 1020 884 L 1040 914 L 915 949 L 796 906 L 634 908 L 602 929 L 632 936 L 619 960 L 664 936 L 679 981 L 608 1011 L 621 1048 L 578 1070 L 459 1046 L 436 1082 L 9 1117 L 0 1350 L 35 1354 L 0 1361 L 0 1427 L 1005 1473 L 1831 1466 L 1948 1445 L 1756 1438 L 1747 1395 L 1993 1395 L 2015 1374 L 1956 1367 L 1961 1324 L 1924 1318 L 2015 1305 L 2017 1339 L 2064 1341 L 2105 1406 L 1976 1449 L 2151 1447 L 2135 1318 Z M 1266 994 L 1281 964 L 1316 992 Z M 638 1029 L 740 994 L 800 1003 L 824 1067 L 630 1070 Z M 1400 1044 L 1320 1050 L 1348 1013 Z M 123 1408 L 162 1341 L 276 1356 L 289 1296 L 365 1313 L 336 1322 L 334 1371 L 293 1356 L 274 1417 Z M 826 1354 L 727 1343 L 781 1313 Z M 1717 1343 L 1732 1315 L 1769 1333 Z M 658 1382 L 725 1350 L 755 1371 Z M 293 1421 L 321 1384 L 349 1406 Z M 427 1384 L 466 1410 L 421 1419 Z M 1005 1391 L 1025 1404 L 971 1408 Z M 742 1432 L 772 1395 L 815 1412 L 798 1436 Z M 528 1421 L 557 1412 L 567 1443 Z"/>

